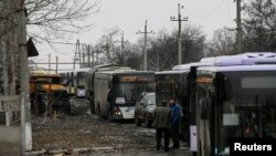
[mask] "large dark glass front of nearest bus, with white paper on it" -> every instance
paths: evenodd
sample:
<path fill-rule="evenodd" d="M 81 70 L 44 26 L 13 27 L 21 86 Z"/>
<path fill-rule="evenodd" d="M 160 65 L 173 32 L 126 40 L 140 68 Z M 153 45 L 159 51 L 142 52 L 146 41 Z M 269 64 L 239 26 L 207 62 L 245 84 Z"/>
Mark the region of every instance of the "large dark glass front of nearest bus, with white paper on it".
<path fill-rule="evenodd" d="M 276 138 L 275 72 L 229 72 L 222 77 L 221 150 L 230 137 Z"/>

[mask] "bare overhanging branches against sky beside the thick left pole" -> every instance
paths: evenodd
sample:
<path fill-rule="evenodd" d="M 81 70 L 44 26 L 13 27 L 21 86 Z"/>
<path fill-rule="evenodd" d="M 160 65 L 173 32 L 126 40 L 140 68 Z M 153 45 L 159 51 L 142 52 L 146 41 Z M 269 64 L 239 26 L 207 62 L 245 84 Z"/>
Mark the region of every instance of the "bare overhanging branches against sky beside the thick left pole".
<path fill-rule="evenodd" d="M 29 35 L 47 42 L 86 31 L 98 11 L 97 0 L 26 0 L 25 7 Z"/>

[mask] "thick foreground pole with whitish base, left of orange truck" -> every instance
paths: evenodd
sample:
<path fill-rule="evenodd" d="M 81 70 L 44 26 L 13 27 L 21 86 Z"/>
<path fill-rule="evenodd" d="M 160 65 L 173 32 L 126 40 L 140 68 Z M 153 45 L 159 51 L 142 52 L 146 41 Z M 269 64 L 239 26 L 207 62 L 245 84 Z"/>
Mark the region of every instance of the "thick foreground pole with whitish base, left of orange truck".
<path fill-rule="evenodd" d="M 29 89 L 29 69 L 26 51 L 26 14 L 25 1 L 18 0 L 18 42 L 20 55 L 20 91 L 21 91 L 21 150 L 32 150 L 31 104 Z"/>

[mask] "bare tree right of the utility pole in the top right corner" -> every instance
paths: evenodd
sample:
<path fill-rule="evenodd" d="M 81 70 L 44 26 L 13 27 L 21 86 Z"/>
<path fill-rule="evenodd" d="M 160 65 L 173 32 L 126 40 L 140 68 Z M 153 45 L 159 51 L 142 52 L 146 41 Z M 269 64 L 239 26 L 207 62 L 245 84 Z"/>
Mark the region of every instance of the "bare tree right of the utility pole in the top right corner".
<path fill-rule="evenodd" d="M 244 12 L 245 51 L 275 51 L 276 1 L 253 0 L 245 6 Z"/>

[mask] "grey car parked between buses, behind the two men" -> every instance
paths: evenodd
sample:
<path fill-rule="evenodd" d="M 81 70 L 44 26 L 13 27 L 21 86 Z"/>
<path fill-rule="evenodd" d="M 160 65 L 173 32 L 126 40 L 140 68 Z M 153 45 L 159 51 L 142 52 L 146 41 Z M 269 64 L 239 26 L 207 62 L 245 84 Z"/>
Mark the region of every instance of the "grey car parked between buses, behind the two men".
<path fill-rule="evenodd" d="M 136 126 L 141 126 L 144 123 L 146 127 L 151 127 L 153 122 L 153 112 L 156 110 L 156 93 L 144 92 L 135 106 L 135 123 Z"/>

